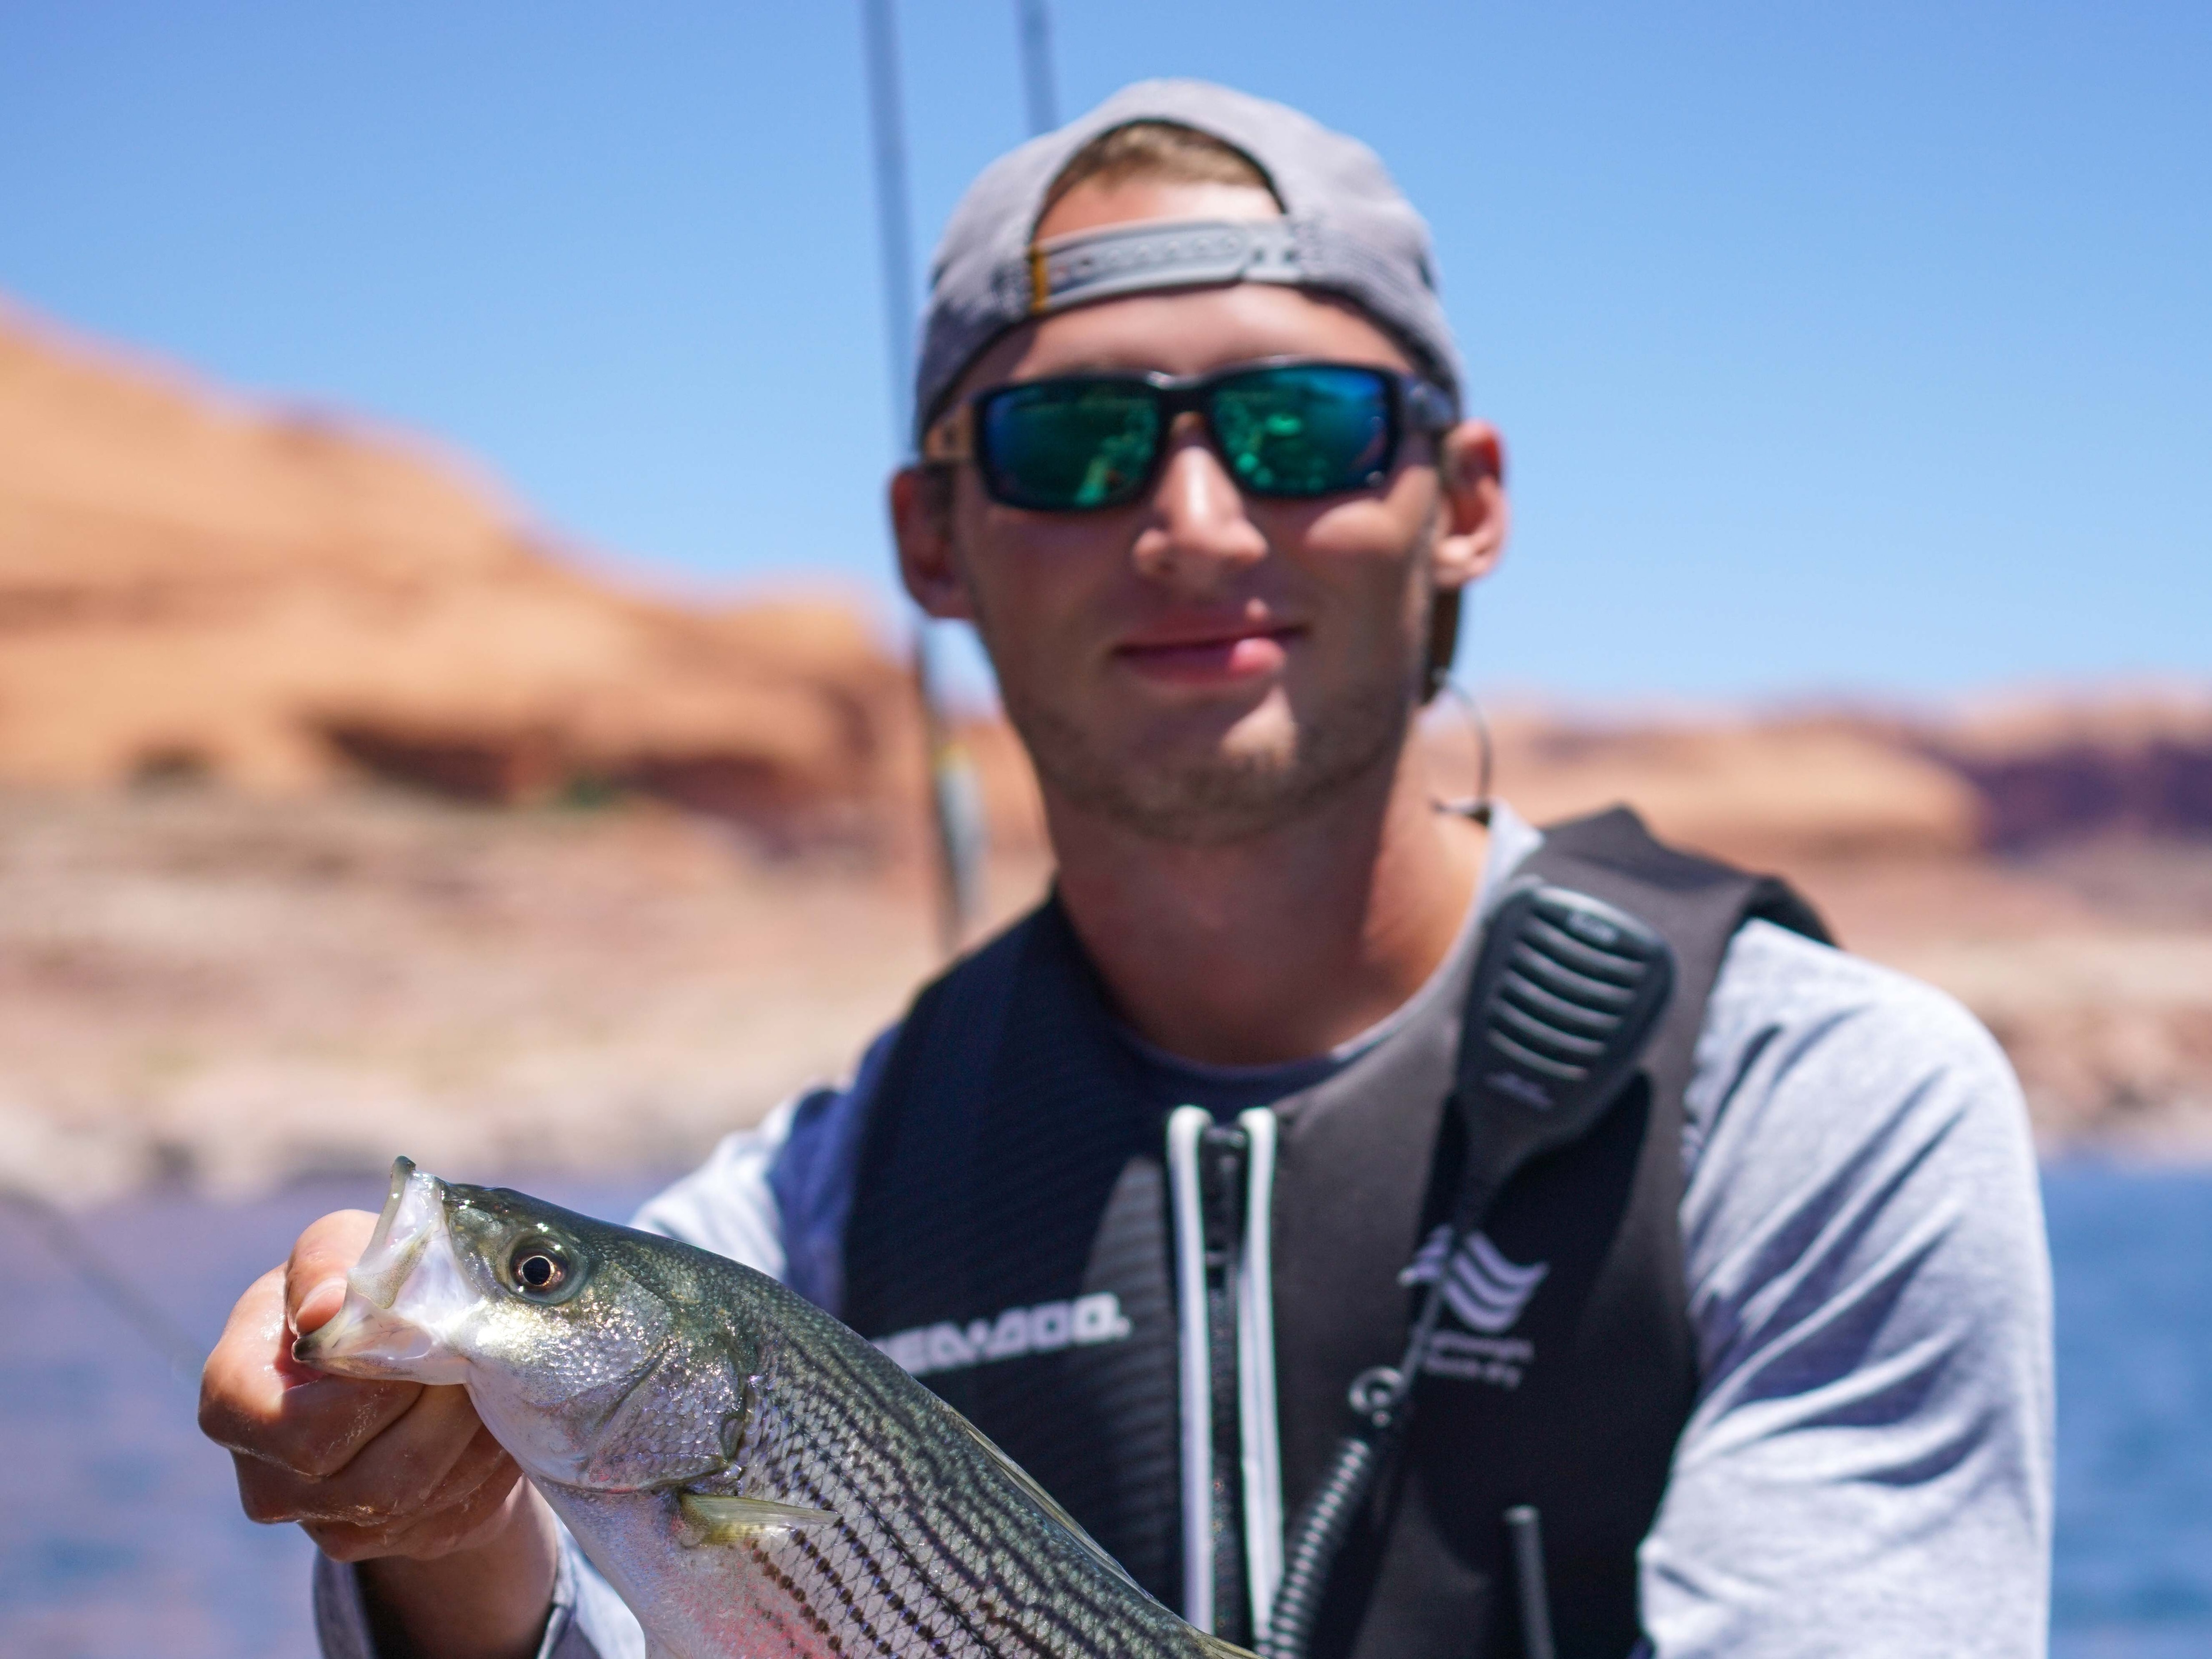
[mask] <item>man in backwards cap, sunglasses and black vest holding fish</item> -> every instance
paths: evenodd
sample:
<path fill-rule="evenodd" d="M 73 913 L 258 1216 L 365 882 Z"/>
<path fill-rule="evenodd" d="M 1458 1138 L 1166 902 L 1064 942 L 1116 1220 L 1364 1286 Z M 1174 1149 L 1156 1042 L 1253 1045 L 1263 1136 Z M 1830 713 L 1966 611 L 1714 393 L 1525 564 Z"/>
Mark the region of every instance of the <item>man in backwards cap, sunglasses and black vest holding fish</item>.
<path fill-rule="evenodd" d="M 641 1225 L 878 1338 L 1243 1641 L 1347 1380 L 1442 1276 L 1318 1655 L 1522 1652 L 1524 1504 L 1562 1652 L 2039 1652 L 2048 1274 L 2011 1073 L 1624 816 L 1436 807 L 1413 717 L 1506 540 L 1460 394 L 1425 226 L 1303 115 L 1152 82 L 978 179 L 891 513 L 907 588 L 991 653 L 1057 885 Z M 1588 1137 L 1416 1256 L 1467 1179 L 1444 1097 L 1484 918 L 1533 878 L 1659 927 L 1674 1004 Z M 248 1513 L 323 1546 L 325 1652 L 635 1652 L 465 1396 L 285 1358 L 367 1228 L 327 1217 L 246 1294 L 201 1411 Z"/>

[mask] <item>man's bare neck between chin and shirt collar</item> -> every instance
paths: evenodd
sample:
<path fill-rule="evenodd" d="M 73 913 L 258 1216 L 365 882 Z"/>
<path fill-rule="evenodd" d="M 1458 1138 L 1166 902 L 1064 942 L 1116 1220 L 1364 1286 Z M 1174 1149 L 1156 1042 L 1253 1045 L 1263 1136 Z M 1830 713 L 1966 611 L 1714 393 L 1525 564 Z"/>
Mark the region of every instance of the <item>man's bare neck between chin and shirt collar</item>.
<path fill-rule="evenodd" d="M 1186 1060 L 1325 1053 L 1394 1013 L 1451 951 L 1486 834 L 1394 770 L 1250 841 L 1164 845 L 1046 799 L 1060 900 L 1121 1018 Z"/>

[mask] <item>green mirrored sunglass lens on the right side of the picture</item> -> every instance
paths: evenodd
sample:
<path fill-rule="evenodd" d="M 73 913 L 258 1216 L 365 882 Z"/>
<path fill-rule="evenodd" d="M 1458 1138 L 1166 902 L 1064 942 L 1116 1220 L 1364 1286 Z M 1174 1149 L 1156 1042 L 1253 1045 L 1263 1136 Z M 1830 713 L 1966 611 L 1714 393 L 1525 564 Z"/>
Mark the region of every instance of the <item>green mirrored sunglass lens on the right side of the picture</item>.
<path fill-rule="evenodd" d="M 1389 380 L 1329 365 L 1252 369 L 1214 387 L 1212 427 L 1230 473 L 1259 495 L 1365 489 L 1389 465 Z"/>

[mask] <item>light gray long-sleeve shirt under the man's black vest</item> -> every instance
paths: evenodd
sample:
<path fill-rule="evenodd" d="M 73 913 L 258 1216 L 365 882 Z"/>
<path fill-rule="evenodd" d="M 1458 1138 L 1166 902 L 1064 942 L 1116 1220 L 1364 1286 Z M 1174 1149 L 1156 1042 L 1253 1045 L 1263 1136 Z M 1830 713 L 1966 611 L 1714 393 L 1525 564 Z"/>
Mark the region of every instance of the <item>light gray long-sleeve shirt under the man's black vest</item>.
<path fill-rule="evenodd" d="M 1537 843 L 1500 812 L 1484 891 Z M 1478 920 L 1455 953 L 1475 949 Z M 1179 1093 L 1250 1106 L 1318 1082 L 1405 1013 L 1294 1066 L 1139 1051 Z M 860 1126 L 894 1035 L 843 1088 L 728 1137 L 637 1223 L 834 1312 Z M 2026 1113 L 1995 1042 L 1927 984 L 1750 922 L 1705 1006 L 1683 1170 L 1699 1396 L 1639 1553 L 1657 1659 L 2042 1655 L 2051 1270 Z M 319 1562 L 316 1613 L 330 1659 L 374 1659 L 347 1568 Z M 644 1655 L 573 1544 L 540 1655 Z"/>

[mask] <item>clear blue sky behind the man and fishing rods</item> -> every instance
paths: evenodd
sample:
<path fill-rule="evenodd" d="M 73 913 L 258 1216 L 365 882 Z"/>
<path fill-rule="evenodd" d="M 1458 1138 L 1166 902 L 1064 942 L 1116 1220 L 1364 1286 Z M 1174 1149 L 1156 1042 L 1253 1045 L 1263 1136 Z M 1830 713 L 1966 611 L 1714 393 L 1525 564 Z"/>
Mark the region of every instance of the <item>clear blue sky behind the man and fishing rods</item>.
<path fill-rule="evenodd" d="M 900 0 L 922 254 L 1022 137 Z M 1520 529 L 1462 677 L 1929 697 L 2212 677 L 2212 9 L 1057 0 L 1429 215 Z M 0 292 L 473 456 L 690 586 L 896 617 L 849 0 L 0 0 Z"/>

